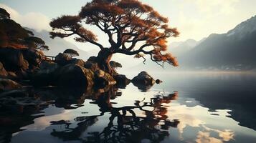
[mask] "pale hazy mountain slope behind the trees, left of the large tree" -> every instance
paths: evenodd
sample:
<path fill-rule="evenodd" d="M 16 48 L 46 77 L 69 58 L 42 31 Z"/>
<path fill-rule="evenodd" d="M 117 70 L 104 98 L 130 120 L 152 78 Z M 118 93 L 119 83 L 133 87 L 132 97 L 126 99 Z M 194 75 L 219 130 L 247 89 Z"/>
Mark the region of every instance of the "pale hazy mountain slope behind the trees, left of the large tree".
<path fill-rule="evenodd" d="M 77 56 L 77 58 L 84 60 L 87 60 L 89 58 L 89 54 L 87 53 L 87 51 L 78 49 L 77 46 L 70 43 L 69 41 L 60 38 L 51 39 L 49 37 L 49 31 L 42 30 L 38 32 L 34 29 L 28 30 L 32 31 L 34 33 L 34 36 L 38 36 L 39 38 L 43 39 L 47 46 L 49 46 L 49 51 L 44 51 L 44 54 L 47 56 L 56 56 L 57 54 L 65 51 L 65 49 L 75 49 L 80 54 L 80 56 Z"/>

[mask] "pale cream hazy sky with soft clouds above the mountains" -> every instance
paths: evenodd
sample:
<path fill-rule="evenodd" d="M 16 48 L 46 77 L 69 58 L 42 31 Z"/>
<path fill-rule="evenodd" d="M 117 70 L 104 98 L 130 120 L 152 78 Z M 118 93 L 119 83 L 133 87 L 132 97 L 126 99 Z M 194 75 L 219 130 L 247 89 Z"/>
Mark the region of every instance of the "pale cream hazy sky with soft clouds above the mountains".
<path fill-rule="evenodd" d="M 22 26 L 50 30 L 49 21 L 62 14 L 77 14 L 88 0 L 0 0 L 0 7 Z M 209 34 L 222 34 L 256 15 L 256 0 L 142 0 L 169 17 L 170 26 L 181 32 L 179 38 L 200 40 Z M 97 31 L 96 31 L 97 32 Z M 100 39 L 100 36 L 99 36 Z M 77 46 L 83 46 L 77 44 Z M 81 47 L 80 47 L 81 48 Z"/>

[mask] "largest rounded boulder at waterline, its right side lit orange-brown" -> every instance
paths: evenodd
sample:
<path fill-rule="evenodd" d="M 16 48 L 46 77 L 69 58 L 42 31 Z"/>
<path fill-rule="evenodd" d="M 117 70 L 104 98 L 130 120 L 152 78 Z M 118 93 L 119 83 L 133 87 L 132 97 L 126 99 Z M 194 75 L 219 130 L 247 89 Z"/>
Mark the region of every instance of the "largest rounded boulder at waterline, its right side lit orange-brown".
<path fill-rule="evenodd" d="M 67 64 L 60 70 L 60 87 L 93 86 L 94 73 L 77 64 Z"/>

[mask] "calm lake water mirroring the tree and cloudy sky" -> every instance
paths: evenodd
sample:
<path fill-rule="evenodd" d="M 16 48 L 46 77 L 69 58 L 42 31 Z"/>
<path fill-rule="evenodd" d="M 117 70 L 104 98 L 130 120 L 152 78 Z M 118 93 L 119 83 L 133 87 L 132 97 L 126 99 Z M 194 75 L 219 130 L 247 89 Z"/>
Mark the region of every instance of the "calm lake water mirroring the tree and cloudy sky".
<path fill-rule="evenodd" d="M 32 89 L 41 104 L 1 112 L 0 141 L 256 142 L 255 74 L 153 77 L 163 83 L 148 92 Z"/>

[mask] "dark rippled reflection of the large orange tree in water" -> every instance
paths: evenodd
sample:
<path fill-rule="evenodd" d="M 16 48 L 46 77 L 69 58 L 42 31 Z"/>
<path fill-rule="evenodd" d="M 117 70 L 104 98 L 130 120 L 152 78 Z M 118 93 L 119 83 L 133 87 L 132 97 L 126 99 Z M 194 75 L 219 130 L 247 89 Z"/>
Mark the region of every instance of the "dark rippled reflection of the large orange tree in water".
<path fill-rule="evenodd" d="M 169 136 L 169 128 L 177 127 L 179 120 L 170 121 L 167 116 L 166 107 L 162 103 L 169 103 L 178 97 L 178 92 L 169 94 L 156 94 L 150 102 L 136 101 L 133 106 L 113 107 L 110 99 L 120 96 L 118 89 L 110 88 L 108 92 L 97 92 L 91 97 L 100 107 L 100 115 L 90 117 L 77 117 L 75 120 L 79 123 L 77 127 L 70 128 L 68 122 L 63 131 L 53 129 L 52 136 L 59 137 L 65 141 L 82 139 L 84 142 L 141 142 L 143 139 L 149 139 L 151 142 L 161 142 Z M 151 110 L 147 110 L 151 107 Z M 138 115 L 135 112 L 139 109 L 143 112 Z M 102 132 L 89 132 L 86 137 L 81 137 L 83 132 L 98 121 L 98 117 L 105 113 L 110 113 L 107 127 Z"/>

